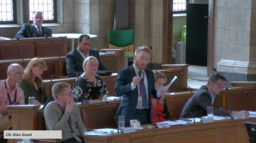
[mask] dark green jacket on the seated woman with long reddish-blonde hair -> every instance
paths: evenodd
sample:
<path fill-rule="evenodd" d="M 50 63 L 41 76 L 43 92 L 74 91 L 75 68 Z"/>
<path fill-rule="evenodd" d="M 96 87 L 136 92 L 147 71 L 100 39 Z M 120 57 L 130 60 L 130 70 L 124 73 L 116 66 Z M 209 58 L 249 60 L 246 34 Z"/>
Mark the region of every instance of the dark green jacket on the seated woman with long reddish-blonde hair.
<path fill-rule="evenodd" d="M 35 97 L 35 100 L 40 102 L 39 94 L 34 85 L 28 83 L 27 80 L 23 79 L 22 82 L 18 83 L 18 87 L 23 90 L 25 96 L 25 104 L 29 104 L 29 97 Z M 48 100 L 46 93 L 46 85 L 42 88 L 42 98 L 44 103 Z M 43 104 L 43 103 L 42 103 Z"/>

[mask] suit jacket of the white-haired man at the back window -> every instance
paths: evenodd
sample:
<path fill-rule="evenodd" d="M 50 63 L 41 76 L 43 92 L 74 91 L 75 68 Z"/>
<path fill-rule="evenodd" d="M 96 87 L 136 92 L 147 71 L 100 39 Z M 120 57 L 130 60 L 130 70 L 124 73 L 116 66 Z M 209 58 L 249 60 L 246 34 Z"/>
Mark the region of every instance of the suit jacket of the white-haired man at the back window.
<path fill-rule="evenodd" d="M 52 30 L 48 27 L 42 26 L 42 35 L 41 37 L 45 37 L 46 34 L 48 37 L 52 37 Z M 34 23 L 25 23 L 22 25 L 22 29 L 15 35 L 15 39 L 23 39 L 23 38 L 36 38 L 37 30 L 35 28 Z"/>

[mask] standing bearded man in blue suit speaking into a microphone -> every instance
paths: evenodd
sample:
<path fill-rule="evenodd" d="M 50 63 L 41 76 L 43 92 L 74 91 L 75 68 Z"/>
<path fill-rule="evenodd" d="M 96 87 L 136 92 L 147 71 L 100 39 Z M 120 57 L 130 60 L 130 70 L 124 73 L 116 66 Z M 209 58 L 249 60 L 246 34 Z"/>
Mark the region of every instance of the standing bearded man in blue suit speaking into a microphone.
<path fill-rule="evenodd" d="M 147 69 L 151 56 L 150 48 L 138 47 L 135 50 L 134 64 L 118 71 L 115 83 L 115 94 L 122 96 L 122 102 L 117 110 L 118 116 L 124 116 L 125 126 L 130 126 L 130 120 L 138 120 L 141 125 L 152 122 L 151 97 L 156 97 L 154 73 Z"/>

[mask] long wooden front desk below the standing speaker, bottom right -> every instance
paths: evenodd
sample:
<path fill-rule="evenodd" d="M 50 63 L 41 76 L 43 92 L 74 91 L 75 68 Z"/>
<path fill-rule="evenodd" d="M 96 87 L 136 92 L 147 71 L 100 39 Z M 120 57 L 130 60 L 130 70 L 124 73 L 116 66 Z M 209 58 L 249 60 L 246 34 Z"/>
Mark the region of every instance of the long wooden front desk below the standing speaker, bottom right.
<path fill-rule="evenodd" d="M 172 142 L 172 143 L 247 143 L 248 134 L 244 122 L 256 122 L 256 118 L 241 120 L 214 121 L 190 125 L 171 126 L 162 129 L 143 129 L 132 133 L 119 133 L 106 136 L 85 135 L 87 143 L 109 142 Z M 145 126 L 144 126 L 145 127 Z M 145 127 L 146 128 L 146 127 Z"/>

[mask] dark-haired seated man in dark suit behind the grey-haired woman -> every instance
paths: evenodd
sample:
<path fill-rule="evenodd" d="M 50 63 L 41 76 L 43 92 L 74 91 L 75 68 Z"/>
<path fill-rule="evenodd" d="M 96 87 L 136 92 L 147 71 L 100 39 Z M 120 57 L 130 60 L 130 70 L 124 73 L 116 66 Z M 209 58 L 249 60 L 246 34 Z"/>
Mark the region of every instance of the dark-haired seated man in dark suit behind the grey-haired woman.
<path fill-rule="evenodd" d="M 88 56 L 95 56 L 99 61 L 98 70 L 106 71 L 97 49 L 91 49 L 91 38 L 88 35 L 81 35 L 78 38 L 78 47 L 66 55 L 66 69 L 69 76 L 74 77 L 83 74 L 83 61 Z"/>

